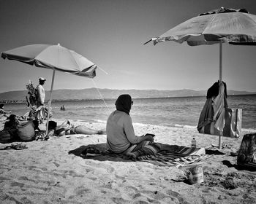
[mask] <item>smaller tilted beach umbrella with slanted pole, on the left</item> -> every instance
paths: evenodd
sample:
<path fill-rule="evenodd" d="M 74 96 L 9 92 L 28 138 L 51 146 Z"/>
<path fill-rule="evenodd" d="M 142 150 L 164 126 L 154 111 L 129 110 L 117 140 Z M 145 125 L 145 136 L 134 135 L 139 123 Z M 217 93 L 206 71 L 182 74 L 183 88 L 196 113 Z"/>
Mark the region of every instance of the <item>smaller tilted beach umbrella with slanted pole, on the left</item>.
<path fill-rule="evenodd" d="M 94 63 L 72 50 L 61 47 L 59 44 L 30 44 L 23 47 L 17 47 L 13 50 L 1 52 L 1 58 L 18 60 L 31 66 L 53 69 L 50 99 L 48 102 L 49 111 L 56 70 L 89 78 L 94 78 L 94 76 L 96 76 L 97 66 Z M 50 114 L 48 112 L 46 134 L 48 134 L 49 115 Z"/>

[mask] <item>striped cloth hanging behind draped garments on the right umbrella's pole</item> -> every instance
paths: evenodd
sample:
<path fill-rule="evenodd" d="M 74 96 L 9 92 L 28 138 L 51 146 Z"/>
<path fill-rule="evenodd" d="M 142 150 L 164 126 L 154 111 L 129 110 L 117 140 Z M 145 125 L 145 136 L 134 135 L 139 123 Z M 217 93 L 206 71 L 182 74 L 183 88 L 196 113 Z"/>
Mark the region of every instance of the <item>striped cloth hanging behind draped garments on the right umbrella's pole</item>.
<path fill-rule="evenodd" d="M 217 130 L 217 128 L 214 127 L 215 122 L 211 122 L 203 126 L 199 130 L 199 133 L 214 136 L 224 136 L 229 138 L 238 138 L 241 136 L 241 119 L 242 109 L 225 108 L 225 126 L 223 131 Z"/>

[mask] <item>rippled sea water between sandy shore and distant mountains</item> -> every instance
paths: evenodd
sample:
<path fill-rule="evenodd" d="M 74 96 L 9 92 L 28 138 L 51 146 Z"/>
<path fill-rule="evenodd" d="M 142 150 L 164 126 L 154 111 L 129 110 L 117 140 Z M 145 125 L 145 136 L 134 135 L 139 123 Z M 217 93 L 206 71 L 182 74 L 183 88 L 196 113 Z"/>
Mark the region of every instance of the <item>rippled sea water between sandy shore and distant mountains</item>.
<path fill-rule="evenodd" d="M 106 122 L 116 109 L 116 100 L 53 101 L 53 118 Z M 132 122 L 167 127 L 196 127 L 206 96 L 177 98 L 135 98 L 130 111 Z M 242 109 L 242 129 L 256 130 L 256 95 L 228 95 L 229 108 Z M 65 107 L 62 111 L 61 106 Z M 5 110 L 24 115 L 26 103 L 7 103 Z"/>

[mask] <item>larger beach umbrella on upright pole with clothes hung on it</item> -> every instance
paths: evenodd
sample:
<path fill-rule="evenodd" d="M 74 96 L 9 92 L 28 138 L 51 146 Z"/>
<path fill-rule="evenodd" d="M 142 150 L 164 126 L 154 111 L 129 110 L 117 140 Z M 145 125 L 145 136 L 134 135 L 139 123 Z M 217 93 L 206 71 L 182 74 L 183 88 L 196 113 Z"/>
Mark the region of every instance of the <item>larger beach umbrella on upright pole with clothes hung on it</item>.
<path fill-rule="evenodd" d="M 256 44 L 256 15 L 246 9 L 211 10 L 178 24 L 161 36 L 148 42 L 187 42 L 189 46 L 219 44 L 219 81 L 222 82 L 222 43 Z M 146 42 L 145 44 L 147 44 Z M 221 147 L 219 136 L 219 147 Z"/>

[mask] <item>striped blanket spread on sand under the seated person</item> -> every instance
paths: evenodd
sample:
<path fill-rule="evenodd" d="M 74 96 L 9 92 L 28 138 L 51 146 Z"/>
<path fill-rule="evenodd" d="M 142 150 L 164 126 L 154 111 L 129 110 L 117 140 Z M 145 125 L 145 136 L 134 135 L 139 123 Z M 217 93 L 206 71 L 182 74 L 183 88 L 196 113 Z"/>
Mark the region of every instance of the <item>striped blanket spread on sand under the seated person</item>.
<path fill-rule="evenodd" d="M 161 151 L 153 155 L 145 155 L 132 159 L 124 154 L 115 154 L 108 152 L 104 144 L 80 146 L 78 149 L 69 151 L 69 154 L 75 154 L 84 159 L 92 160 L 116 160 L 119 158 L 121 161 L 134 161 L 134 162 L 150 162 L 159 166 L 173 166 L 180 168 L 186 165 L 191 165 L 195 162 L 206 160 L 211 155 L 206 154 L 204 148 L 186 147 L 171 145 L 168 150 Z"/>

